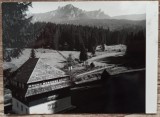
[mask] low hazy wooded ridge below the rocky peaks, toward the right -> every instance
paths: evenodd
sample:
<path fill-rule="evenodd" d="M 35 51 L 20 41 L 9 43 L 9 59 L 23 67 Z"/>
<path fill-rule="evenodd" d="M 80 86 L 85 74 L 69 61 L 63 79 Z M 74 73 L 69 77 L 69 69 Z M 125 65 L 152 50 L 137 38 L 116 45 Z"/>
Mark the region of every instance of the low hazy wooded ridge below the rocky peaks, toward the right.
<path fill-rule="evenodd" d="M 90 27 L 103 27 L 104 29 L 110 30 L 121 30 L 124 28 L 136 28 L 146 26 L 145 20 L 134 21 L 134 20 L 125 20 L 125 19 L 83 19 L 83 20 L 69 20 L 63 21 L 59 24 L 73 24 L 81 26 L 90 26 Z"/>

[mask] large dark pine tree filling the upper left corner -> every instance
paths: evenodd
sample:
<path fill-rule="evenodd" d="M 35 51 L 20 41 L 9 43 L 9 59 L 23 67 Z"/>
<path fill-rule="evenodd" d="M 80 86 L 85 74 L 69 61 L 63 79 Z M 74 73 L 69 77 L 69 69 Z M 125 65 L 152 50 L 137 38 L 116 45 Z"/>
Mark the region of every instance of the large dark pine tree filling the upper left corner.
<path fill-rule="evenodd" d="M 25 29 L 31 18 L 26 18 L 26 11 L 31 2 L 2 3 L 3 51 L 7 48 L 22 50 L 26 45 Z M 20 51 L 16 56 L 20 55 Z"/>

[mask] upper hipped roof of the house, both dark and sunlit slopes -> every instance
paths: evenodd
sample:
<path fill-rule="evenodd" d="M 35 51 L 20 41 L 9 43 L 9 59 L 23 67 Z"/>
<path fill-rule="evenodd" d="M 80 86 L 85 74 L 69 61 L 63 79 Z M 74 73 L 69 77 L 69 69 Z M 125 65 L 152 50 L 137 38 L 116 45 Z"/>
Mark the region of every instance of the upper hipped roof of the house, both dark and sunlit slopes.
<path fill-rule="evenodd" d="M 68 76 L 55 67 L 50 58 L 30 58 L 17 71 L 14 80 L 20 83 L 35 83 Z"/>

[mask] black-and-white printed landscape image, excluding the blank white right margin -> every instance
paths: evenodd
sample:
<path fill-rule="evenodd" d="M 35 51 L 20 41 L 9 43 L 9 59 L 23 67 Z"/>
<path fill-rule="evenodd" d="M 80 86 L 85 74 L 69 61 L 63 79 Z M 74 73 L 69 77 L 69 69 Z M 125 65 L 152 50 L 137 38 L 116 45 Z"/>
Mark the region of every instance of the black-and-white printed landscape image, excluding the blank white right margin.
<path fill-rule="evenodd" d="M 4 113 L 146 113 L 146 6 L 3 2 Z"/>

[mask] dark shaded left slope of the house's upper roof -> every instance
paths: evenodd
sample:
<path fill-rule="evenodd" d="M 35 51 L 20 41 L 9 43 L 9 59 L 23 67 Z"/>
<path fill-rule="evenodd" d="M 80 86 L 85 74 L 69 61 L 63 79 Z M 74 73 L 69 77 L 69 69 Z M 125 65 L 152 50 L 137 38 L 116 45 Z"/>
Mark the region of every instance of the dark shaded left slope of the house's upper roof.
<path fill-rule="evenodd" d="M 29 58 L 18 70 L 16 76 L 13 78 L 14 80 L 27 83 L 29 80 L 33 69 L 37 64 L 38 58 Z"/>

